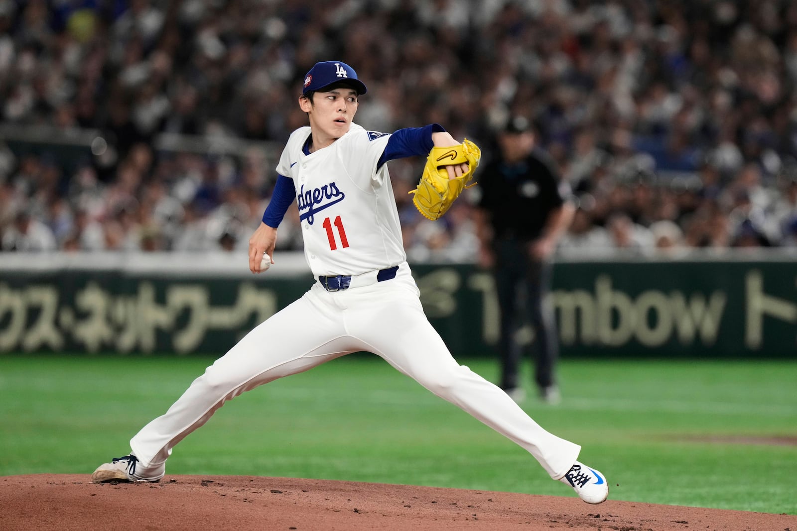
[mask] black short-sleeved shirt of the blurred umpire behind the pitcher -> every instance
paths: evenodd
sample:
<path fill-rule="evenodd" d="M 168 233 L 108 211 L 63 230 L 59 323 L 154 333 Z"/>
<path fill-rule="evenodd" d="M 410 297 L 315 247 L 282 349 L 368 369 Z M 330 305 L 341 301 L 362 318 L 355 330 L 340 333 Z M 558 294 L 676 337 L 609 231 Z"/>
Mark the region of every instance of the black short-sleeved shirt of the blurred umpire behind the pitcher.
<path fill-rule="evenodd" d="M 540 150 L 513 164 L 493 158 L 478 183 L 478 206 L 490 213 L 495 240 L 536 240 L 551 211 L 564 203 L 559 174 Z"/>

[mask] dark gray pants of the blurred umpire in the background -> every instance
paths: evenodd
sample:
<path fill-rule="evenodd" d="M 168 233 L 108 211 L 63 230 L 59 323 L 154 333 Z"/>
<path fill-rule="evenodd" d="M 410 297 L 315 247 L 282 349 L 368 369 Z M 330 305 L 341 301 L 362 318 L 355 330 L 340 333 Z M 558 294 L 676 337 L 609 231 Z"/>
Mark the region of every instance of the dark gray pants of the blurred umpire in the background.
<path fill-rule="evenodd" d="M 536 347 L 536 384 L 540 388 L 554 385 L 554 366 L 559 357 L 556 322 L 552 307 L 548 306 L 552 264 L 534 260 L 528 252 L 528 241 L 497 240 L 495 277 L 498 304 L 501 309 L 501 388 L 518 386 L 520 361 L 528 350 L 516 342 L 520 323 L 528 319 L 534 331 L 532 346 Z"/>

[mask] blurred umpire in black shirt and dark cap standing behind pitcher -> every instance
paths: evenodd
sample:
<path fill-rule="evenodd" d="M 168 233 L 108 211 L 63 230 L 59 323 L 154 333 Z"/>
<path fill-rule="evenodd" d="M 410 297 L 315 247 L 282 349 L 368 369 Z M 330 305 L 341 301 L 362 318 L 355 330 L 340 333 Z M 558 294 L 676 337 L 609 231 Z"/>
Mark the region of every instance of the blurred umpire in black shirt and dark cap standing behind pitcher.
<path fill-rule="evenodd" d="M 524 400 L 518 381 L 523 347 L 516 333 L 521 318 L 526 317 L 534 331 L 540 398 L 556 404 L 559 340 L 548 291 L 552 255 L 575 207 L 569 187 L 535 140 L 528 119 L 510 119 L 497 135 L 493 158 L 480 171 L 481 264 L 493 267 L 501 309 L 501 388 L 514 400 Z"/>

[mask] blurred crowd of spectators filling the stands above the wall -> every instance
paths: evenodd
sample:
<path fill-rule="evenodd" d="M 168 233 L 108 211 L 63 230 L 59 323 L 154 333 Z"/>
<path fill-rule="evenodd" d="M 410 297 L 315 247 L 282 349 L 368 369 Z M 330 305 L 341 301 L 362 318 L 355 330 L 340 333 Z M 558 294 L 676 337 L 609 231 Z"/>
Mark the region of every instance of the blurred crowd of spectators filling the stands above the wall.
<path fill-rule="evenodd" d="M 370 130 L 441 123 L 489 157 L 531 119 L 578 205 L 562 256 L 797 246 L 790 0 L 0 0 L 0 124 L 103 142 L 65 163 L 0 137 L 0 248 L 246 248 L 330 58 L 366 82 Z M 169 133 L 270 147 L 157 149 Z M 423 221 L 421 167 L 391 162 L 410 260 L 473 260 L 478 188 Z"/>

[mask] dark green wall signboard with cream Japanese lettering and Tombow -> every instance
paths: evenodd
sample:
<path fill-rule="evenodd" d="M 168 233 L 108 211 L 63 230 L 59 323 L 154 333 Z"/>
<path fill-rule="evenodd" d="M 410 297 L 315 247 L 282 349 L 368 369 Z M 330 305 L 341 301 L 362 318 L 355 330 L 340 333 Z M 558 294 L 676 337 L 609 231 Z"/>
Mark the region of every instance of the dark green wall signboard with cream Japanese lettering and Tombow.
<path fill-rule="evenodd" d="M 492 275 L 466 264 L 413 269 L 426 314 L 452 352 L 493 355 Z M 311 284 L 309 274 L 6 268 L 0 352 L 221 355 Z M 563 357 L 795 357 L 790 261 L 560 263 L 552 302 Z M 518 334 L 533 340 L 528 328 Z"/>

